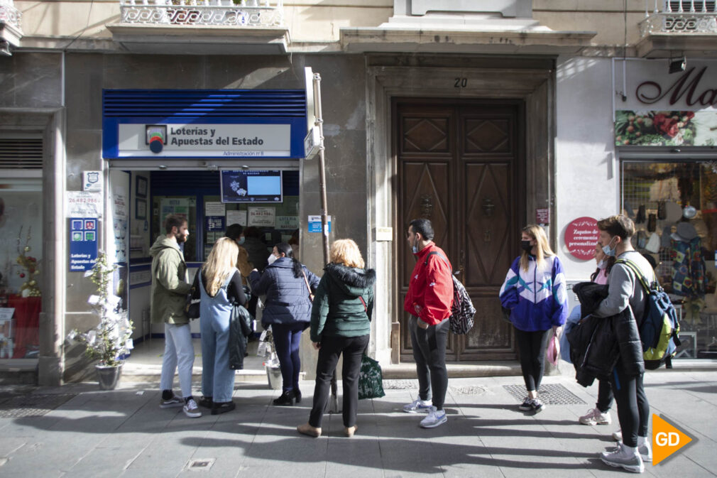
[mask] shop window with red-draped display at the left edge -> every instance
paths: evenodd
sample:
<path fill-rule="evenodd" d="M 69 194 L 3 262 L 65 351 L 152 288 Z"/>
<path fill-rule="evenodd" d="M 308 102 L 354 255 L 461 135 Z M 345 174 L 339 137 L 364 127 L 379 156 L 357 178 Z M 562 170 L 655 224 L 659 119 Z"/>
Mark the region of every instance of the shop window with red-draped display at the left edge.
<path fill-rule="evenodd" d="M 42 183 L 0 184 L 0 359 L 37 358 L 42 275 Z"/>

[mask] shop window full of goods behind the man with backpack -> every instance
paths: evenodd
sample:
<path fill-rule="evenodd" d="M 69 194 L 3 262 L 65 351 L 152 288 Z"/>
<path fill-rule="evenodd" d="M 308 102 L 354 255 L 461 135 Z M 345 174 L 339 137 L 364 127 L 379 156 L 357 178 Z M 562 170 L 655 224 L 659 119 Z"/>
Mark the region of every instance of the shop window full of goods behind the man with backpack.
<path fill-rule="evenodd" d="M 717 357 L 717 164 L 624 161 L 622 210 L 683 316 L 678 355 Z"/>

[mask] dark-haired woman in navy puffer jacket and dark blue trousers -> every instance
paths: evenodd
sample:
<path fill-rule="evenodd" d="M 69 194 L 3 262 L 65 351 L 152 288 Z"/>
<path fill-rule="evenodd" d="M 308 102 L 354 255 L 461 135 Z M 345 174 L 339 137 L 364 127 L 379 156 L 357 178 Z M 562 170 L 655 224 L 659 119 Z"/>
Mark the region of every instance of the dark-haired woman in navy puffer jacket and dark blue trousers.
<path fill-rule="evenodd" d="M 309 326 L 311 301 L 318 277 L 293 257 L 291 246 L 274 246 L 263 273 L 254 269 L 249 275 L 252 294 L 266 295 L 262 327 L 271 326 L 279 357 L 282 394 L 274 405 L 291 406 L 301 401 L 299 390 L 299 343 L 301 332 Z"/>

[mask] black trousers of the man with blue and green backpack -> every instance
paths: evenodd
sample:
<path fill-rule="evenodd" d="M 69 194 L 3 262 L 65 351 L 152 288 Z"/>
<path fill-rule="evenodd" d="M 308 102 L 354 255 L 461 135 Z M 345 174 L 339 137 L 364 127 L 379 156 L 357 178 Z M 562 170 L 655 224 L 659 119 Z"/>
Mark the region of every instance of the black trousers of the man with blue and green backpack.
<path fill-rule="evenodd" d="M 625 446 L 637 446 L 637 436 L 647 436 L 647 423 L 650 420 L 650 403 L 645 395 L 643 374 L 626 376 L 617 362 L 610 375 L 612 393 L 617 405 L 617 418 L 622 430 L 622 443 Z"/>

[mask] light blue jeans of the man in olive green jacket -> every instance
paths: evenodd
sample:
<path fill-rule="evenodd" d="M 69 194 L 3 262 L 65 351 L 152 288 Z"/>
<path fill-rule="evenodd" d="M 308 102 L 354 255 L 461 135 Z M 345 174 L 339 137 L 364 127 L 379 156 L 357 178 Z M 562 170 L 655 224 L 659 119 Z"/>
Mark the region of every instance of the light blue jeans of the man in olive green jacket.
<path fill-rule="evenodd" d="M 164 355 L 159 386 L 171 390 L 174 370 L 179 368 L 179 386 L 183 397 L 191 396 L 191 367 L 194 366 L 194 345 L 189 324 L 164 324 Z"/>

